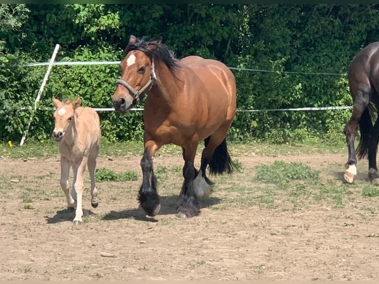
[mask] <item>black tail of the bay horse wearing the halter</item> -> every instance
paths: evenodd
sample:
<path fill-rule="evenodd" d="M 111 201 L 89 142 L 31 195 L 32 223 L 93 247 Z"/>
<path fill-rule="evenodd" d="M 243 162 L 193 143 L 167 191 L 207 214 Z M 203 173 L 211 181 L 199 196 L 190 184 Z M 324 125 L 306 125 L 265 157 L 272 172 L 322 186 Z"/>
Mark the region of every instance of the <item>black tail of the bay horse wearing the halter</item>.
<path fill-rule="evenodd" d="M 208 145 L 209 139 L 210 137 L 204 139 L 205 146 Z M 211 175 L 222 175 L 225 172 L 232 174 L 235 167 L 236 164 L 230 158 L 225 138 L 223 142 L 217 146 L 209 161 L 209 173 Z"/>

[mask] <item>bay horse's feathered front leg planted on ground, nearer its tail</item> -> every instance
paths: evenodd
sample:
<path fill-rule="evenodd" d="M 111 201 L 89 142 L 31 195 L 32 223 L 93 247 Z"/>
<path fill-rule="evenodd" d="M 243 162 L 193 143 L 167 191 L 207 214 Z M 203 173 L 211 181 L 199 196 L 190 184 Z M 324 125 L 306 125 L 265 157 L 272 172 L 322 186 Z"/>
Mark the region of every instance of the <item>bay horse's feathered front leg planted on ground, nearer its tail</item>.
<path fill-rule="evenodd" d="M 183 146 L 183 158 L 185 160 L 183 167 L 184 182 L 179 195 L 177 214 L 179 218 L 188 218 L 196 216 L 200 213 L 200 206 L 194 192 L 193 180 L 196 169 L 193 166 L 193 161 L 196 155 L 197 143 L 189 146 Z"/>

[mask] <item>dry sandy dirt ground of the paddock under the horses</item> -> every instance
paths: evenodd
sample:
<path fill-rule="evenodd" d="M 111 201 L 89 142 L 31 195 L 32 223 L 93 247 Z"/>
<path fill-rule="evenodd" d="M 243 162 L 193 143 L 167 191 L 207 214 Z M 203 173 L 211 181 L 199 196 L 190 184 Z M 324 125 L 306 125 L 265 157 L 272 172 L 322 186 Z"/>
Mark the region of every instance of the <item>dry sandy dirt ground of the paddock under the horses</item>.
<path fill-rule="evenodd" d="M 237 158 L 244 172 L 228 177 L 236 183 L 251 176 L 254 166 L 278 159 L 307 163 L 323 170 L 326 178 L 341 180 L 341 173 L 328 169 L 342 172 L 346 162 L 344 154 Z M 322 203 L 296 210 L 222 207 L 232 192 L 223 190 L 227 178 L 216 177 L 212 197 L 201 201 L 201 214 L 181 220 L 174 213 L 182 159 L 156 157 L 155 167 L 180 170 L 158 179 L 161 212 L 147 218 L 136 198 L 142 181 L 140 159 L 98 159 L 97 168 L 135 170 L 139 179 L 97 183 L 100 203 L 95 209 L 86 190 L 85 218 L 75 227 L 59 187 L 58 159 L 1 158 L 0 279 L 379 279 L 377 197 L 357 198 L 340 208 Z M 369 184 L 367 162 L 360 162 L 358 171 L 357 179 Z M 85 186 L 89 187 L 89 178 Z M 361 195 L 354 187 L 352 194 Z"/>

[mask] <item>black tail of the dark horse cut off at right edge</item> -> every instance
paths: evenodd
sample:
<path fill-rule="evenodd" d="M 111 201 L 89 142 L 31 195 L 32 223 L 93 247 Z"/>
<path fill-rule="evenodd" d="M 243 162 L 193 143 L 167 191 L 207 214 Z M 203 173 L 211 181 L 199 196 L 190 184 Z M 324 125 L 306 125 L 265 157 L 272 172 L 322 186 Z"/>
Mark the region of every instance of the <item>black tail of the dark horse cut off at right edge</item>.
<path fill-rule="evenodd" d="M 360 138 L 356 149 L 359 160 L 368 154 L 370 134 L 374 128 L 373 122 L 375 120 L 377 120 L 377 108 L 373 103 L 369 103 L 359 120 Z"/>

